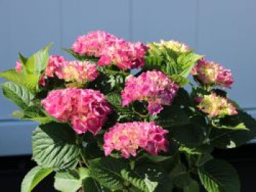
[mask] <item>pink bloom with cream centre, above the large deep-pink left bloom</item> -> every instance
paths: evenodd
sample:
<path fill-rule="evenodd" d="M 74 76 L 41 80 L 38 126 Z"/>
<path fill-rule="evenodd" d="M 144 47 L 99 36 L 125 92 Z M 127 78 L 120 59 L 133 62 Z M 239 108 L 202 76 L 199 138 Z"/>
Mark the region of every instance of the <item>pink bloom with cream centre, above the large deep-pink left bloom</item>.
<path fill-rule="evenodd" d="M 97 66 L 89 61 L 65 61 L 62 56 L 51 55 L 45 70 L 46 77 L 56 75 L 66 82 L 85 83 L 97 78 Z"/>

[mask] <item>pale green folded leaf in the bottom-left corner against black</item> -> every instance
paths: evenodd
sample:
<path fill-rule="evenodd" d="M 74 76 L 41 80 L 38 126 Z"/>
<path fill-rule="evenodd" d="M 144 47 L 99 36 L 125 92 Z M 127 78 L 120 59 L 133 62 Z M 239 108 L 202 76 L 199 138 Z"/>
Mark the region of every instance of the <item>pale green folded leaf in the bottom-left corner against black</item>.
<path fill-rule="evenodd" d="M 40 166 L 34 167 L 24 177 L 21 184 L 21 192 L 32 191 L 33 188 L 51 172 L 53 172 L 53 169 L 44 169 Z"/>

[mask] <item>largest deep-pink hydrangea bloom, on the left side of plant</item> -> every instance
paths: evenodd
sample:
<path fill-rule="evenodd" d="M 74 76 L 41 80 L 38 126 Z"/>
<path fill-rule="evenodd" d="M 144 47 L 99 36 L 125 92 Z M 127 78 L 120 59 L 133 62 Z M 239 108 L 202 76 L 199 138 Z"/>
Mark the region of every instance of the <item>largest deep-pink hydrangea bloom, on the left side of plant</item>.
<path fill-rule="evenodd" d="M 50 91 L 42 100 L 49 115 L 62 122 L 69 122 L 78 134 L 93 134 L 102 128 L 111 112 L 105 96 L 91 89 L 66 88 Z"/>

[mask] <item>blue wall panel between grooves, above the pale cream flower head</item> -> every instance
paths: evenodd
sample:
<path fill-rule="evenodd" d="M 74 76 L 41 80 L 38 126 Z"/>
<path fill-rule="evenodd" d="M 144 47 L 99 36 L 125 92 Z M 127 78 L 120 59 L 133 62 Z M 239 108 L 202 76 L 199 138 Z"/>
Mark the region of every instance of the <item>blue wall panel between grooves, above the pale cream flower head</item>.
<path fill-rule="evenodd" d="M 132 37 L 144 42 L 176 39 L 195 46 L 197 1 L 132 0 Z"/>

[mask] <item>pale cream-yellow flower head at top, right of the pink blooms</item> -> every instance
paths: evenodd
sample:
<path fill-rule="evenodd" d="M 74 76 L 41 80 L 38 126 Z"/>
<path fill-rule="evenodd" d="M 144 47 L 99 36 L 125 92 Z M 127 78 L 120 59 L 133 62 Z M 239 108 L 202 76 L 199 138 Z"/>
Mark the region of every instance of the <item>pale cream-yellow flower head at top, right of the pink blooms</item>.
<path fill-rule="evenodd" d="M 160 40 L 159 43 L 154 42 L 154 45 L 159 46 L 160 49 L 163 48 L 163 47 L 167 47 L 170 50 L 174 50 L 175 52 L 178 52 L 178 53 L 185 53 L 185 52 L 189 51 L 189 46 L 188 45 L 186 45 L 184 43 L 181 43 L 181 42 L 173 41 L 173 40 L 170 40 L 170 41 L 167 41 L 167 42 L 164 41 L 164 40 Z"/>

